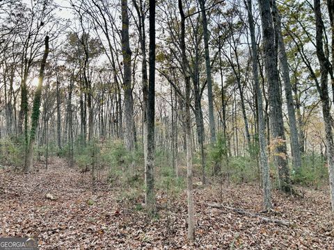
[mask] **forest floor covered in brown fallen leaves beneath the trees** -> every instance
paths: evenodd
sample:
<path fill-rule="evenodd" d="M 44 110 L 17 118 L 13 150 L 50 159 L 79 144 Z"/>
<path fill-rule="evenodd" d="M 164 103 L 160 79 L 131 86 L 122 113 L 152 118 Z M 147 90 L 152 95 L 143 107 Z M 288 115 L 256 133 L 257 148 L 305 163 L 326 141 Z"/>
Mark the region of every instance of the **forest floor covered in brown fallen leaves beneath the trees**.
<path fill-rule="evenodd" d="M 1 237 L 37 236 L 40 249 L 334 249 L 329 191 L 305 189 L 305 197 L 273 192 L 274 210 L 261 216 L 292 222 L 283 226 L 228 208 L 260 213 L 257 185 L 196 187 L 196 241 L 186 240 L 186 191 L 173 201 L 157 194 L 157 217 L 150 219 L 138 199 L 121 199 L 119 188 L 54 159 L 33 174 L 0 170 Z M 51 194 L 52 198 L 47 198 Z M 167 202 L 168 201 L 168 202 Z M 168 205 L 169 203 L 169 205 Z"/>

